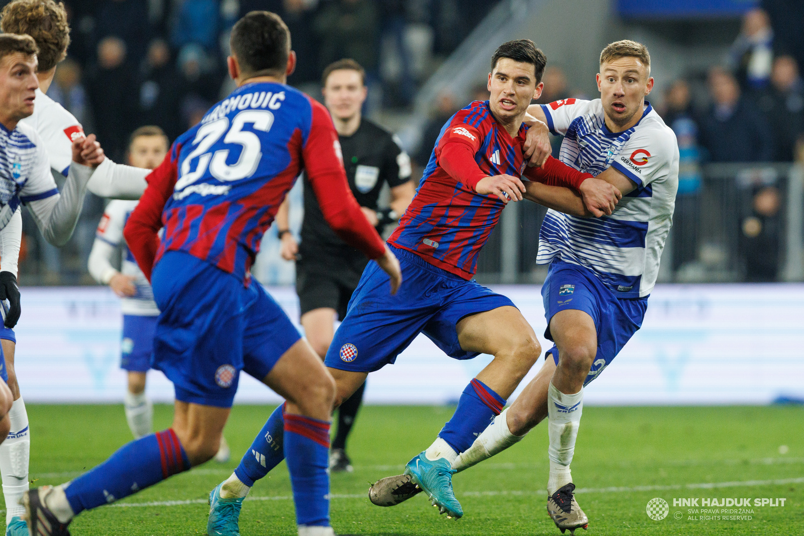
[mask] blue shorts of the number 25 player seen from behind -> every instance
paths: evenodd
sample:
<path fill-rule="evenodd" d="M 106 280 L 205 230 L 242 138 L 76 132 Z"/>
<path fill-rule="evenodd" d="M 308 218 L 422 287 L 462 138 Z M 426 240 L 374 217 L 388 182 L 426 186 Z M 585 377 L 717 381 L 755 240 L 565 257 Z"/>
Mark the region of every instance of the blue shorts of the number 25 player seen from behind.
<path fill-rule="evenodd" d="M 173 381 L 182 402 L 231 407 L 240 370 L 263 380 L 301 339 L 260 283 L 244 287 L 190 254 L 167 252 L 151 283 L 162 311 L 151 365 Z"/>

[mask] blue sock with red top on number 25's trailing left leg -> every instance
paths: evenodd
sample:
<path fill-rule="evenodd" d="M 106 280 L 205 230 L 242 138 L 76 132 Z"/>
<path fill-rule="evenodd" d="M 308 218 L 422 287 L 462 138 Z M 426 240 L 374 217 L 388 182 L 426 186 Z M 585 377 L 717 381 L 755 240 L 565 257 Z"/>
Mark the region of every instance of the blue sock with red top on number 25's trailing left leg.
<path fill-rule="evenodd" d="M 109 460 L 72 480 L 64 493 L 77 515 L 128 497 L 189 468 L 182 443 L 173 429 L 168 428 L 120 447 Z"/>

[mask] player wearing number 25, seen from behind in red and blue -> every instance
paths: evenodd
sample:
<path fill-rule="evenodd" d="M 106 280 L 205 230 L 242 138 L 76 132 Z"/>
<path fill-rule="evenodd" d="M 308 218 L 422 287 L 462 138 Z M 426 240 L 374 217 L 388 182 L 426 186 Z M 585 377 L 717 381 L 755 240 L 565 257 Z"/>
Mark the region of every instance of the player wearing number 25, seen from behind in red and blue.
<path fill-rule="evenodd" d="M 69 534 L 81 511 L 211 459 L 243 370 L 287 400 L 272 423 L 280 426 L 298 534 L 334 535 L 327 474 L 332 377 L 248 270 L 304 167 L 334 231 L 388 270 L 391 291 L 401 274 L 351 194 L 329 113 L 285 85 L 295 65 L 289 38 L 285 23 L 267 11 L 236 23 L 228 68 L 237 89 L 174 142 L 125 227 L 161 311 L 152 365 L 174 382 L 173 427 L 128 443 L 68 484 L 31 490 L 31 534 Z M 210 495 L 213 510 L 239 511 L 244 493 L 224 484 Z M 237 534 L 236 519 L 232 526 L 231 517 L 211 515 L 207 531 Z"/>

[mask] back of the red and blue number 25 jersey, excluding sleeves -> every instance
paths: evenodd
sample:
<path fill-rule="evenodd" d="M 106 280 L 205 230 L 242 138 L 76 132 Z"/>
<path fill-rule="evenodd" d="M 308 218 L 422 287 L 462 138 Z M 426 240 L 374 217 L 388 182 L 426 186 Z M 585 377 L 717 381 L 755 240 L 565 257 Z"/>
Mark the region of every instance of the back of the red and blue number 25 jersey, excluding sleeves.
<path fill-rule="evenodd" d="M 301 170 L 312 115 L 309 98 L 289 86 L 248 84 L 182 134 L 171 150 L 178 179 L 161 251 L 243 275 Z"/>

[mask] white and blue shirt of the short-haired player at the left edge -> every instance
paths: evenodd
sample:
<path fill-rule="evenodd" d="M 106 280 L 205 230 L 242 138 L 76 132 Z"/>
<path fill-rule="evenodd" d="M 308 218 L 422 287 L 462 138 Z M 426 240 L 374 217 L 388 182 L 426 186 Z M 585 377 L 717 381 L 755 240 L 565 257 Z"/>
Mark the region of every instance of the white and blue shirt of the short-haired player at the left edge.
<path fill-rule="evenodd" d="M 39 134 L 18 123 L 14 130 L 0 125 L 0 229 L 6 227 L 20 203 L 59 193 Z"/>

